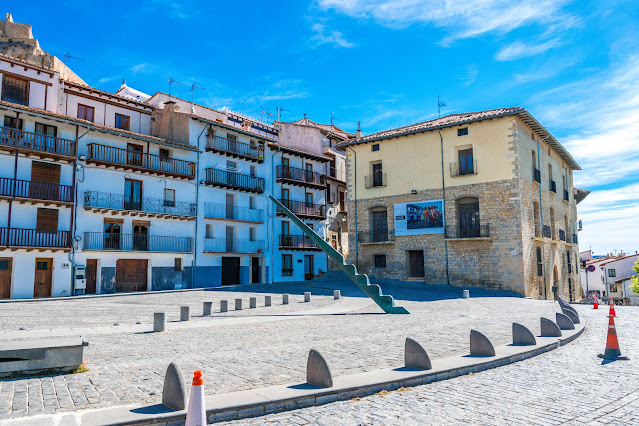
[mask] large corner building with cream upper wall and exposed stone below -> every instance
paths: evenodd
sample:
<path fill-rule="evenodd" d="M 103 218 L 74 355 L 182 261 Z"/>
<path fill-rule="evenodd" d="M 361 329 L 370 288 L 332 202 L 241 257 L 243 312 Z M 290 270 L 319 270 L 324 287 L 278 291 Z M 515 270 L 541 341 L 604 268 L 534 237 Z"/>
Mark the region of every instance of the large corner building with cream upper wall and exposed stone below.
<path fill-rule="evenodd" d="M 525 109 L 452 114 L 343 146 L 348 259 L 361 272 L 583 297 L 580 167 Z"/>

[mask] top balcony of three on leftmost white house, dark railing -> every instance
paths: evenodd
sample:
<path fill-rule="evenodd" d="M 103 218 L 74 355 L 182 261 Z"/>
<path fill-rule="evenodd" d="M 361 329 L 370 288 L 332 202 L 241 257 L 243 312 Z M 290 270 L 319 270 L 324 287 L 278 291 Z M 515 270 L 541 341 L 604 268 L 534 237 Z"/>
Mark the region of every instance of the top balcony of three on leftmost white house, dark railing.
<path fill-rule="evenodd" d="M 56 138 L 24 130 L 0 127 L 0 149 L 39 155 L 57 160 L 73 161 L 76 144 L 69 139 Z"/>

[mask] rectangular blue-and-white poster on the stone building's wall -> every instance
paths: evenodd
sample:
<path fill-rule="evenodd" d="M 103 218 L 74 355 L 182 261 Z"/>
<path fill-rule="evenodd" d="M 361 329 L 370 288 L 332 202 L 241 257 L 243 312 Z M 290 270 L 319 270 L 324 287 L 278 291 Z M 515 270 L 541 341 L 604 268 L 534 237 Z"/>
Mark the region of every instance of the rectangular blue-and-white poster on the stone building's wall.
<path fill-rule="evenodd" d="M 395 235 L 444 233 L 444 200 L 395 204 Z"/>

